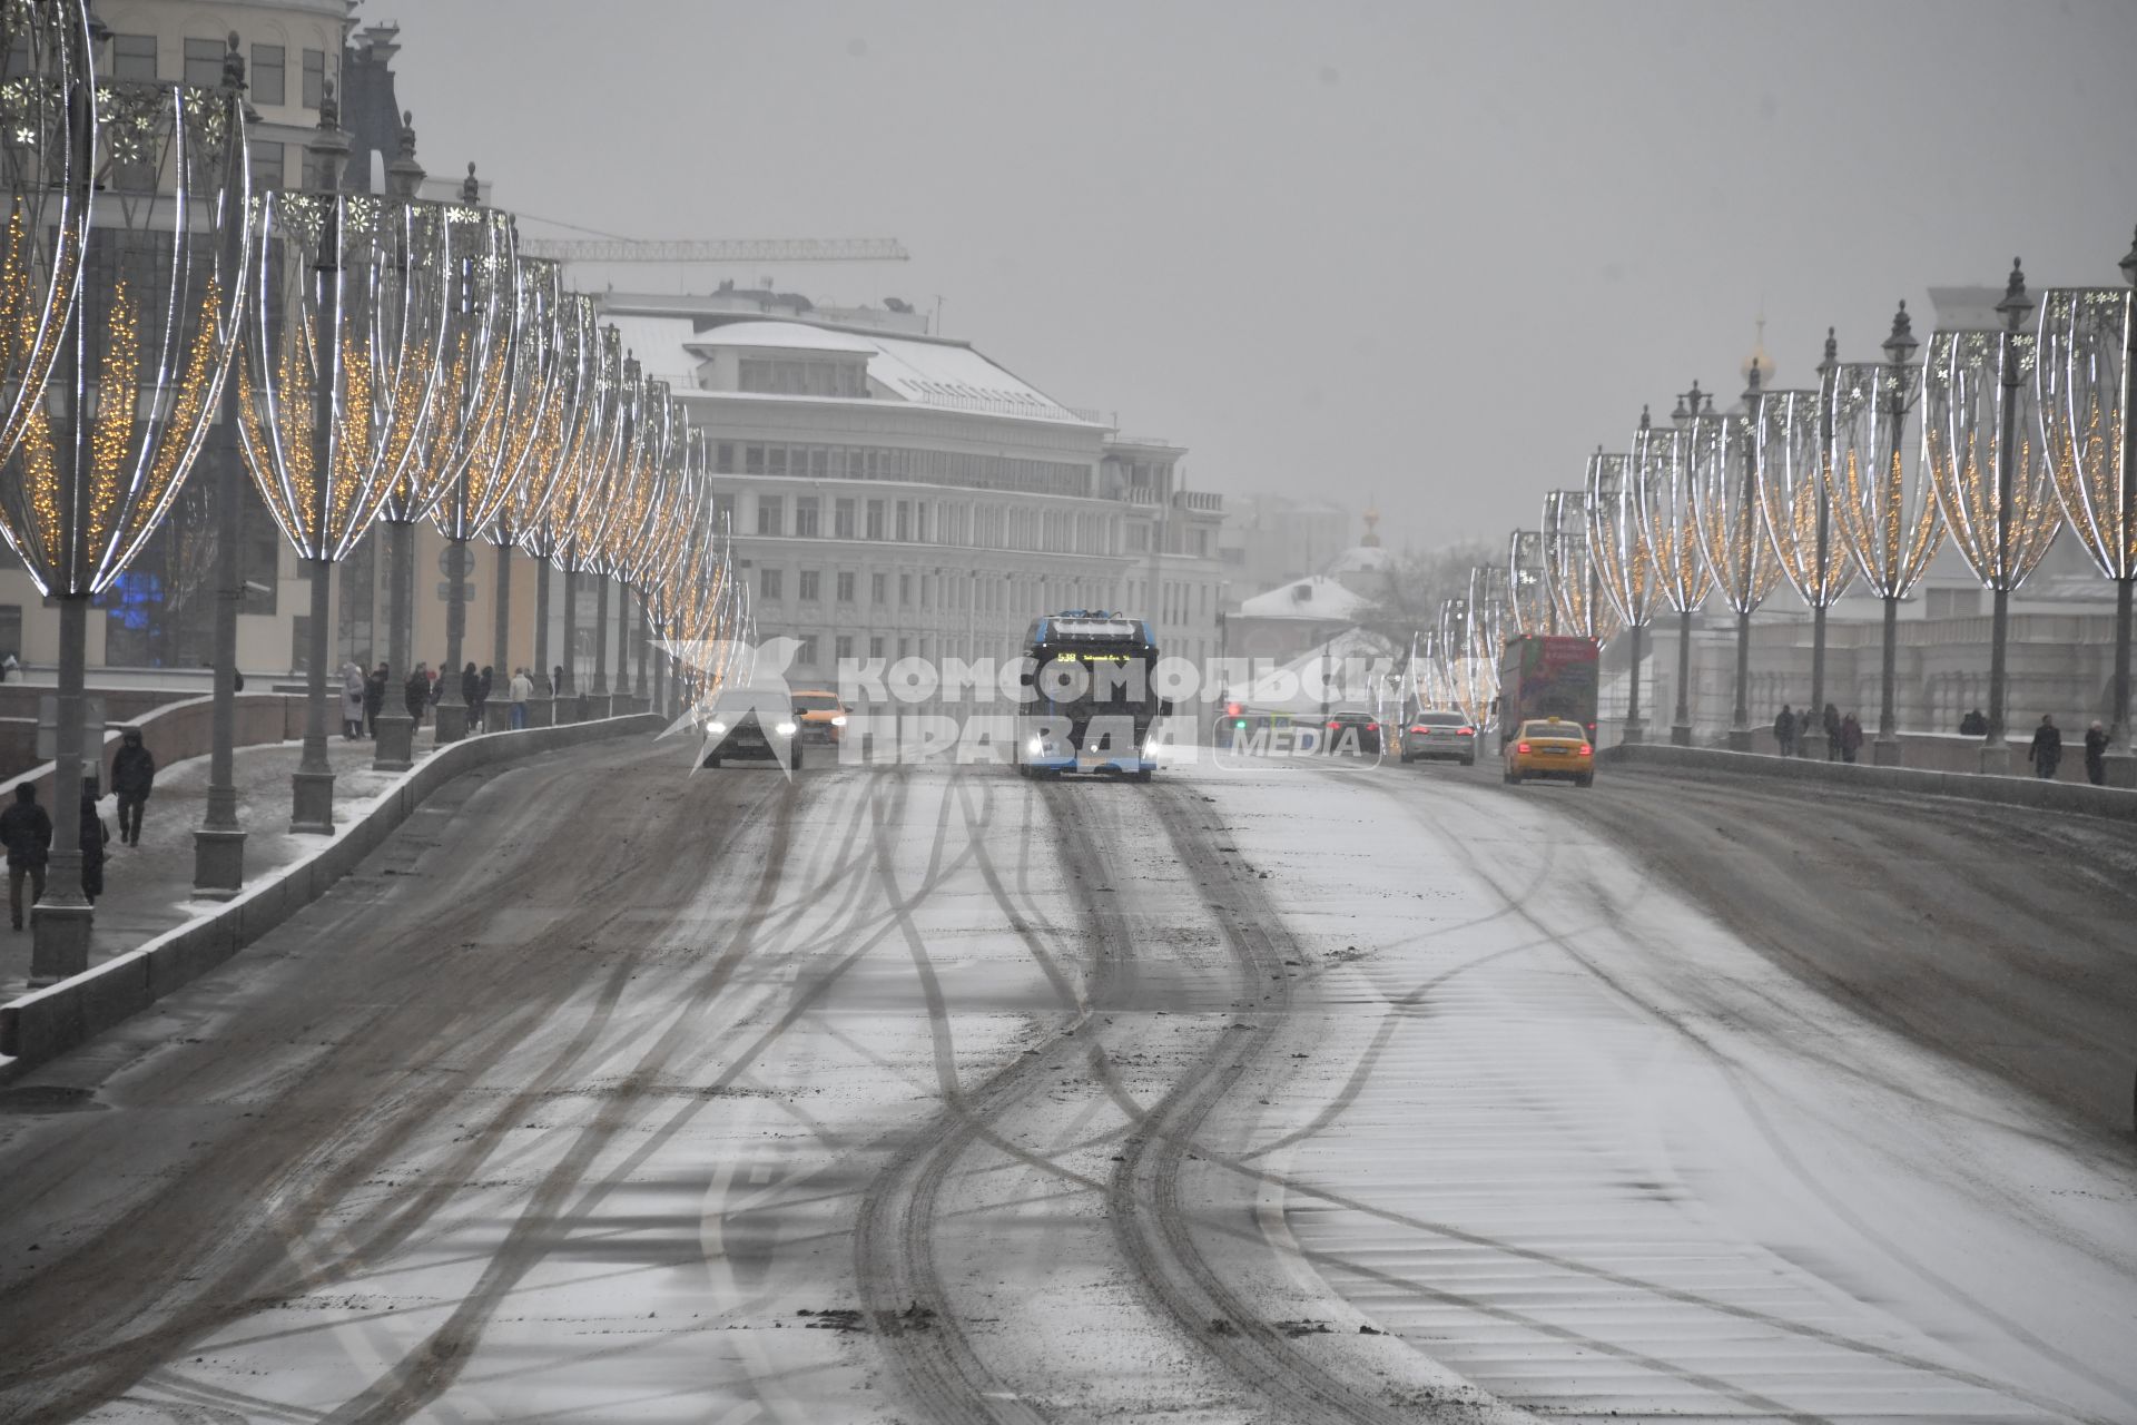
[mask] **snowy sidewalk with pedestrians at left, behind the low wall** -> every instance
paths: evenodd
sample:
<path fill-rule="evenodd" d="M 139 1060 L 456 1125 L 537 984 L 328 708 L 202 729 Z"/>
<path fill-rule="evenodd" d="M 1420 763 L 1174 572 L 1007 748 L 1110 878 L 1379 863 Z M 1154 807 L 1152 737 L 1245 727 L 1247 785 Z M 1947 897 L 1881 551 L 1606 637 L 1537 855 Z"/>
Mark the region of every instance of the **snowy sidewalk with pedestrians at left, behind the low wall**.
<path fill-rule="evenodd" d="M 246 884 L 301 861 L 331 840 L 288 831 L 291 773 L 297 771 L 301 750 L 301 743 L 284 741 L 235 752 L 237 820 L 248 833 Z M 432 726 L 425 722 L 415 737 L 417 765 L 434 750 Z M 389 784 L 406 776 L 372 771 L 372 754 L 370 741 L 344 741 L 340 733 L 327 739 L 338 825 L 374 805 Z M 192 899 L 192 831 L 207 812 L 207 761 L 190 756 L 156 769 L 156 790 L 147 799 L 139 846 L 120 844 L 118 801 L 107 795 L 96 803 L 111 829 L 111 844 L 105 848 L 105 893 L 96 897 L 96 929 L 90 936 L 92 966 L 222 904 Z M 28 893 L 28 887 L 24 891 Z M 0 1002 L 13 1000 L 28 987 L 30 931 L 0 931 Z"/>

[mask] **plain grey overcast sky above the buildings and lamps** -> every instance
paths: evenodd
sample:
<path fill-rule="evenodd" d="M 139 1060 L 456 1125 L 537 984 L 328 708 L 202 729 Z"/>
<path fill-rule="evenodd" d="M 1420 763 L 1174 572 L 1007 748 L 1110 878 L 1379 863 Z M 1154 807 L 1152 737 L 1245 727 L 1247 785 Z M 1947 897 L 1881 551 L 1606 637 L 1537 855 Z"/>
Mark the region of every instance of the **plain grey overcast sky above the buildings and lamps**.
<path fill-rule="evenodd" d="M 1695 376 L 1925 288 L 2120 282 L 2137 4 L 363 0 L 434 173 L 630 237 L 904 239 L 1188 479 L 1500 538 Z M 541 231 L 541 229 L 534 229 Z M 553 229 L 549 231 L 553 233 Z M 654 286 L 654 271 L 641 284 Z M 709 286 L 718 269 L 699 269 Z M 665 284 L 673 291 L 675 276 Z"/>

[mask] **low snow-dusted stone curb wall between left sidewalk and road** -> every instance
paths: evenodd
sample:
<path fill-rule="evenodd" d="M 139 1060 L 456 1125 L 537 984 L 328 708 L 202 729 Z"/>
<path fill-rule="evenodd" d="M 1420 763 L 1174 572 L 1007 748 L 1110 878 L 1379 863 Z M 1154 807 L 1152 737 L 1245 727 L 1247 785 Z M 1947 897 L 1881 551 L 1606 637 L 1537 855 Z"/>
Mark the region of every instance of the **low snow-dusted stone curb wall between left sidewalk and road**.
<path fill-rule="evenodd" d="M 310 906 L 453 778 L 492 763 L 575 748 L 603 737 L 656 733 L 662 726 L 667 722 L 660 716 L 633 714 L 598 722 L 492 733 L 449 746 L 395 778 L 355 818 L 338 825 L 333 837 L 323 840 L 314 855 L 263 874 L 235 899 L 167 929 L 135 951 L 0 1004 L 0 1083 L 147 1008 Z"/>

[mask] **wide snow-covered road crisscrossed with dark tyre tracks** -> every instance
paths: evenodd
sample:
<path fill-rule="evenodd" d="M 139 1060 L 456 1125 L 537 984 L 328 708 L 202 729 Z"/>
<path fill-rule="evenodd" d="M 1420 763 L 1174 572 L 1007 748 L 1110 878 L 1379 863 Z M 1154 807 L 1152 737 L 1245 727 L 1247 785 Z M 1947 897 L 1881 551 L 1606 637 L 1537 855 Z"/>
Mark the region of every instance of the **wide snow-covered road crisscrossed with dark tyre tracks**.
<path fill-rule="evenodd" d="M 1816 964 L 1902 910 L 1705 908 L 1714 788 L 680 771 L 457 784 L 0 1092 L 0 1416 L 2137 1419 L 2090 921 L 1945 931 L 1955 1058 Z"/>

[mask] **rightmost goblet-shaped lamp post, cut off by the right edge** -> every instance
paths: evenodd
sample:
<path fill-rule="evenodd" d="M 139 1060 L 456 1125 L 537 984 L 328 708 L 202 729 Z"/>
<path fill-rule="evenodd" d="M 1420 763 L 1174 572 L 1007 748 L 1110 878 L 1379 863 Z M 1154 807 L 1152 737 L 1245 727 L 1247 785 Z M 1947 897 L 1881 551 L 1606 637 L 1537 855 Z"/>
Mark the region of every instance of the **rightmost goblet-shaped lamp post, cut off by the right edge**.
<path fill-rule="evenodd" d="M 2071 534 L 2116 585 L 2107 686 L 2109 786 L 2137 786 L 2131 748 L 2131 592 L 2137 588 L 2137 241 L 2124 288 L 2052 288 L 2041 299 L 2041 434 Z"/>

